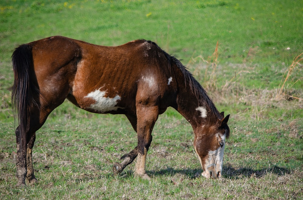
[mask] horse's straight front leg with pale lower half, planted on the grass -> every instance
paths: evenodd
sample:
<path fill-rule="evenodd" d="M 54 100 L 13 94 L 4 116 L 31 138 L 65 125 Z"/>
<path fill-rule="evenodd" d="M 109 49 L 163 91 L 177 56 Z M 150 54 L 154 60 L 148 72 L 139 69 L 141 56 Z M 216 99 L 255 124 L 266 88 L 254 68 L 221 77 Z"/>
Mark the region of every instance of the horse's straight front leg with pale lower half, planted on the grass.
<path fill-rule="evenodd" d="M 135 176 L 150 179 L 145 171 L 145 162 L 148 148 L 151 144 L 151 131 L 158 119 L 158 106 L 137 105 L 137 135 L 138 157 L 135 167 Z"/>

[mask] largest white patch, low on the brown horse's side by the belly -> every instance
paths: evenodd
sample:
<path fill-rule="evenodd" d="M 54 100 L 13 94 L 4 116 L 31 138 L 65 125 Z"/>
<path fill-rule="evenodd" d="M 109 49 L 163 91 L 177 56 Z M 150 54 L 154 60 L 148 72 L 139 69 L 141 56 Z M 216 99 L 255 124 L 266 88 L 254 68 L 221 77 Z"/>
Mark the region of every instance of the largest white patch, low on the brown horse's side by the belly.
<path fill-rule="evenodd" d="M 107 111 L 116 111 L 119 107 L 116 107 L 117 101 L 121 99 L 119 95 L 116 95 L 114 98 L 105 97 L 106 91 L 95 90 L 94 92 L 89 93 L 85 98 L 92 98 L 96 101 L 95 104 L 92 104 L 89 108 L 94 110 L 107 112 Z"/>

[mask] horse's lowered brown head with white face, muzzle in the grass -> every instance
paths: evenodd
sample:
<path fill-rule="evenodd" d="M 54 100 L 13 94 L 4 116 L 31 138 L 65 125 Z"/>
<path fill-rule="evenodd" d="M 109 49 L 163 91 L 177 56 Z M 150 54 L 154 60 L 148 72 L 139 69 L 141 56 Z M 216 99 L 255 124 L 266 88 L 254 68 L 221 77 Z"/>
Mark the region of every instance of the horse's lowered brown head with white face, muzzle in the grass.
<path fill-rule="evenodd" d="M 194 147 L 206 178 L 218 178 L 222 173 L 225 138 L 229 136 L 229 115 L 213 125 L 203 125 L 197 131 Z"/>

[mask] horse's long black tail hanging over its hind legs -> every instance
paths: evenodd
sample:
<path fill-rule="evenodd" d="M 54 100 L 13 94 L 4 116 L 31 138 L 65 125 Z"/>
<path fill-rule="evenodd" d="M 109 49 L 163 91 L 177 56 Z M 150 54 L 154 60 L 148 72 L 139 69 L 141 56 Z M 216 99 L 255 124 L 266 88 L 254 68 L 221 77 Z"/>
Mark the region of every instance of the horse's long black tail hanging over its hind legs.
<path fill-rule="evenodd" d="M 23 44 L 16 48 L 12 54 L 12 63 L 15 78 L 12 88 L 12 108 L 14 113 L 18 113 L 19 121 L 19 138 L 16 134 L 16 140 L 19 140 L 19 149 L 26 150 L 24 145 L 26 145 L 26 133 L 29 130 L 30 112 L 34 105 L 38 105 L 37 97 L 39 96 L 32 47 Z"/>

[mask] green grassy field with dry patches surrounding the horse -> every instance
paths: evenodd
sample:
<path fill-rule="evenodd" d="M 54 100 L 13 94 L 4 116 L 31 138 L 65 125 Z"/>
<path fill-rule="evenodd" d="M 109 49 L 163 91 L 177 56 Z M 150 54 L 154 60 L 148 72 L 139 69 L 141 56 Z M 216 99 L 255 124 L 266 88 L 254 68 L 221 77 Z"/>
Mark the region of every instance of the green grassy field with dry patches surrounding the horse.
<path fill-rule="evenodd" d="M 106 46 L 144 38 L 178 55 L 231 114 L 223 177 L 200 176 L 192 128 L 172 108 L 153 131 L 151 181 L 133 176 L 135 161 L 113 176 L 112 164 L 137 142 L 127 118 L 65 101 L 36 133 L 38 183 L 15 188 L 11 55 L 53 35 Z M 301 0 L 2 0 L 0 199 L 302 199 L 301 53 Z"/>

